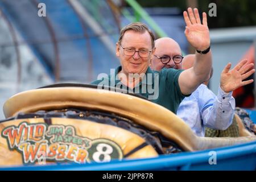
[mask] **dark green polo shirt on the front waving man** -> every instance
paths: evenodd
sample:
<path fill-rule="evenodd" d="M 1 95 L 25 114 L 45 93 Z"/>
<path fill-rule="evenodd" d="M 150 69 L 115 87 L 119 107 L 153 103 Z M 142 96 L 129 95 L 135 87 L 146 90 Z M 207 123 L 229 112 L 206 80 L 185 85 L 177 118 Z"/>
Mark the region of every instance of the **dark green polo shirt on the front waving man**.
<path fill-rule="evenodd" d="M 121 71 L 122 67 L 115 69 L 114 73 L 102 77 L 101 80 L 93 81 L 94 85 L 105 85 L 120 88 L 125 90 L 126 93 L 137 93 L 148 100 L 162 105 L 176 114 L 180 102 L 185 97 L 181 91 L 178 78 L 183 70 L 177 69 L 162 69 L 160 72 L 152 71 L 149 67 L 142 78 L 133 89 L 127 88 L 119 80 L 117 74 Z"/>

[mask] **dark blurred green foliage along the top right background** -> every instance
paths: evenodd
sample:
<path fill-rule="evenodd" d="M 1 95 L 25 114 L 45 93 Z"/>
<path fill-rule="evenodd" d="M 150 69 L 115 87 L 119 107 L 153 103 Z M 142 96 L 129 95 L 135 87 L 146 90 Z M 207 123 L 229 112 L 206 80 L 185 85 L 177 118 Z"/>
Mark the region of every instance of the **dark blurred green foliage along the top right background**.
<path fill-rule="evenodd" d="M 143 7 L 179 7 L 187 8 L 187 0 L 137 0 Z M 256 26 L 255 0 L 197 0 L 199 10 L 208 14 L 209 3 L 216 3 L 217 16 L 208 16 L 210 28 Z"/>

